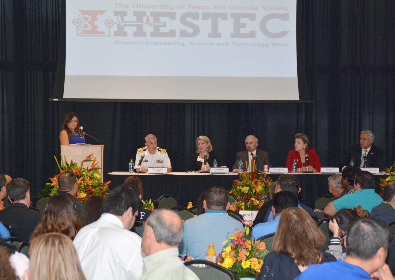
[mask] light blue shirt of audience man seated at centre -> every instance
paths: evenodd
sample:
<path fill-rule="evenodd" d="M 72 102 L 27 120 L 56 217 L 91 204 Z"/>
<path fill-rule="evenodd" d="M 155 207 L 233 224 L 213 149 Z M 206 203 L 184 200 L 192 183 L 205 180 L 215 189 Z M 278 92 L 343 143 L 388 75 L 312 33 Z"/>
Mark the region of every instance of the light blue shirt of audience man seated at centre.
<path fill-rule="evenodd" d="M 226 211 L 208 210 L 184 222 L 184 235 L 179 247 L 179 255 L 206 259 L 209 243 L 214 244 L 218 255 L 226 246 L 223 242 L 228 236 L 243 229 L 243 224 L 230 217 Z"/>

